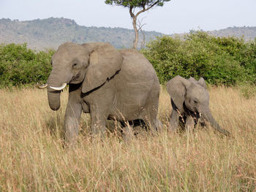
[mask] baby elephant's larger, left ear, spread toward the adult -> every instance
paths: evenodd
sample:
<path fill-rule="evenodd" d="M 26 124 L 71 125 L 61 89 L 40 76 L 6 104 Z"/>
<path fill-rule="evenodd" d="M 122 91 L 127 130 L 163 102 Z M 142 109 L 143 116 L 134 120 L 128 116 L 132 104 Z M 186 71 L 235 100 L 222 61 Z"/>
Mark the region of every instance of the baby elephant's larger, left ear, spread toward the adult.
<path fill-rule="evenodd" d="M 178 109 L 183 107 L 185 94 L 191 83 L 192 82 L 189 82 L 189 80 L 186 80 L 179 75 L 173 77 L 173 79 L 166 83 L 167 92 L 170 94 L 171 99 L 173 99 L 173 102 Z"/>

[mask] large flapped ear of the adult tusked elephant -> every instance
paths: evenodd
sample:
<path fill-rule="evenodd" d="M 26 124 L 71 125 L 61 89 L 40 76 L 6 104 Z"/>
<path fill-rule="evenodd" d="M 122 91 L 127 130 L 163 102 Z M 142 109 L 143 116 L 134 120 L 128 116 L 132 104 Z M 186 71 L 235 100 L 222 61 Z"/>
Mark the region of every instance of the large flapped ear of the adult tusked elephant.
<path fill-rule="evenodd" d="M 123 57 L 115 47 L 109 43 L 96 43 L 90 54 L 82 92 L 87 93 L 104 84 L 121 69 L 122 62 Z"/>

